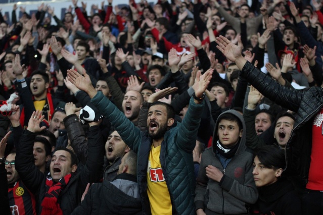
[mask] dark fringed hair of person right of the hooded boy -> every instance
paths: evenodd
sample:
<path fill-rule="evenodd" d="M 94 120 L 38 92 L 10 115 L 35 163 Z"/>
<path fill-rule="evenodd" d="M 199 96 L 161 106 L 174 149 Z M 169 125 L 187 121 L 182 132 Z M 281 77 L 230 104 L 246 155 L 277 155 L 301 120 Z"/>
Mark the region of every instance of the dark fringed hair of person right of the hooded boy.
<path fill-rule="evenodd" d="M 256 150 L 256 156 L 263 166 L 278 170 L 286 167 L 285 151 L 274 145 L 266 145 Z"/>

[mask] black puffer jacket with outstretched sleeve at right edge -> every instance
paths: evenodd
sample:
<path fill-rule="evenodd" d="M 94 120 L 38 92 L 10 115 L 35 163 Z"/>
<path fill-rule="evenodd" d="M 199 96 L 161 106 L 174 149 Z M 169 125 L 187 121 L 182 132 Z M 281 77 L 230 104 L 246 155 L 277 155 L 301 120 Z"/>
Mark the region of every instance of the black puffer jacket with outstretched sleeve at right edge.
<path fill-rule="evenodd" d="M 297 113 L 292 135 L 286 145 L 286 174 L 293 176 L 293 181 L 304 188 L 310 165 L 312 121 L 315 114 L 323 106 L 322 88 L 311 87 L 299 91 L 281 86 L 249 62 L 245 64 L 240 75 L 246 78 L 264 96 Z M 302 128 L 301 131 L 300 128 Z"/>

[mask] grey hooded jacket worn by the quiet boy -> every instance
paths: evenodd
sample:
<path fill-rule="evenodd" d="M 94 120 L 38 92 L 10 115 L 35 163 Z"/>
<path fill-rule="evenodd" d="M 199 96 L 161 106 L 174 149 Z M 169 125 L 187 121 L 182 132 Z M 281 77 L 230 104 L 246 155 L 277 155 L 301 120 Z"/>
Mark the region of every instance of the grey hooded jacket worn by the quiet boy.
<path fill-rule="evenodd" d="M 243 125 L 243 134 L 233 157 L 225 158 L 224 162 L 230 160 L 226 168 L 223 168 L 216 147 L 217 138 L 215 137 L 219 123 L 216 121 L 212 147 L 202 153 L 195 189 L 195 206 L 196 209 L 202 208 L 208 214 L 248 214 L 249 204 L 255 203 L 258 199 L 257 188 L 252 175 L 253 153 L 245 145 L 246 126 L 241 114 L 229 110 L 221 115 L 225 113 L 233 114 L 240 119 Z M 208 165 L 216 167 L 224 174 L 220 182 L 206 176 L 205 168 Z"/>

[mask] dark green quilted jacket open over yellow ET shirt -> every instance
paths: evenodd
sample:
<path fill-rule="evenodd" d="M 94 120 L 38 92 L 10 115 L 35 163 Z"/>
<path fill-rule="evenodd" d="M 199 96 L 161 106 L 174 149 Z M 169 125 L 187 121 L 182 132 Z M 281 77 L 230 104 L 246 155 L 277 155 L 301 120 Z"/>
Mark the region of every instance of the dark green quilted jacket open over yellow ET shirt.
<path fill-rule="evenodd" d="M 150 214 L 147 194 L 148 156 L 152 139 L 148 132 L 136 128 L 116 106 L 101 92 L 91 102 L 110 119 L 122 140 L 138 155 L 137 181 L 141 193 L 144 214 Z M 197 130 L 204 106 L 191 98 L 189 110 L 182 123 L 169 129 L 161 144 L 160 163 L 170 193 L 173 214 L 195 214 L 194 208 L 194 163 L 192 151 L 196 144 Z"/>

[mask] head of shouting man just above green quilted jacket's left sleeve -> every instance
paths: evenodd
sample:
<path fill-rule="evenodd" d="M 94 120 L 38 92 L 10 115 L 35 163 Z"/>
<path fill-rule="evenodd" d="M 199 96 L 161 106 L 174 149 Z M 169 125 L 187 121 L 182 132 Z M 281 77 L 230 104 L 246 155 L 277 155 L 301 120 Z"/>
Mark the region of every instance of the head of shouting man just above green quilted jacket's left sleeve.
<path fill-rule="evenodd" d="M 141 105 L 144 101 L 143 95 L 136 90 L 129 90 L 124 95 L 122 110 L 126 118 L 137 125 Z"/>

